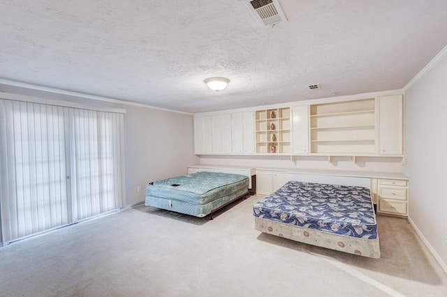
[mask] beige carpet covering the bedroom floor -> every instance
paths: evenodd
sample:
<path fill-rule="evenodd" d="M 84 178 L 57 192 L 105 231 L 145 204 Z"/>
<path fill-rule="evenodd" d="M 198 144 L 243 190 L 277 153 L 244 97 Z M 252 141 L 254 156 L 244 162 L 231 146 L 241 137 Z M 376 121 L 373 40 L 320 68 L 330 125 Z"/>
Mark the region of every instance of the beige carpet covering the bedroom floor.
<path fill-rule="evenodd" d="M 447 296 L 407 220 L 379 216 L 381 259 L 254 229 L 240 200 L 206 220 L 147 206 L 0 249 L 0 296 Z"/>

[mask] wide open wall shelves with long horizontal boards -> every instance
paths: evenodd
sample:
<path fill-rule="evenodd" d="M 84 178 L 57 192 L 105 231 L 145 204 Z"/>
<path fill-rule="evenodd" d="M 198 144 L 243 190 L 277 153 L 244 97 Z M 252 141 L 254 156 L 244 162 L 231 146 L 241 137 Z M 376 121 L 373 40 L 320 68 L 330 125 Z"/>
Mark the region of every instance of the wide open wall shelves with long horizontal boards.
<path fill-rule="evenodd" d="M 310 105 L 311 153 L 374 155 L 374 98 Z"/>

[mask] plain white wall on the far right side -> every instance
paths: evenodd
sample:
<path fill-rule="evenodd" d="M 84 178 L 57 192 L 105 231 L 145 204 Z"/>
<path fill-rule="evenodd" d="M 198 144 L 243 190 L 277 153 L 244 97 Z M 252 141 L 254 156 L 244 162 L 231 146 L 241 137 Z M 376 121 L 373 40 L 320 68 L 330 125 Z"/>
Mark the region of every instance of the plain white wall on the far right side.
<path fill-rule="evenodd" d="M 409 218 L 447 271 L 447 54 L 406 91 Z"/>

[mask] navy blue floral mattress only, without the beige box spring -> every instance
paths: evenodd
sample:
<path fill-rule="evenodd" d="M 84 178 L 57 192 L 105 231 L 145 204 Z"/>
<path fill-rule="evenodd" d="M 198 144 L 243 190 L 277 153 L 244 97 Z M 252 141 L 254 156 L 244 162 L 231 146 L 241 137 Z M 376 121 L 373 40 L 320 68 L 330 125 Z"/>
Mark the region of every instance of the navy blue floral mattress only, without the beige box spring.
<path fill-rule="evenodd" d="M 289 181 L 253 206 L 258 218 L 332 234 L 377 238 L 369 189 Z"/>

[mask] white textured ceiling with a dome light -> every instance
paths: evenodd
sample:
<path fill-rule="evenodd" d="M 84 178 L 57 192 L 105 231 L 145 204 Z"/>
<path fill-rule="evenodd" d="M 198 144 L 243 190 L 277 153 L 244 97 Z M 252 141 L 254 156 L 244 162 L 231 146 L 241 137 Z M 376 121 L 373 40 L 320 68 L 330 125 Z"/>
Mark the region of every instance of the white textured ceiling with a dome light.
<path fill-rule="evenodd" d="M 1 0 L 0 79 L 205 112 L 401 89 L 447 45 L 446 0 L 279 2 Z"/>

